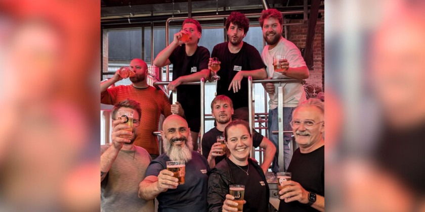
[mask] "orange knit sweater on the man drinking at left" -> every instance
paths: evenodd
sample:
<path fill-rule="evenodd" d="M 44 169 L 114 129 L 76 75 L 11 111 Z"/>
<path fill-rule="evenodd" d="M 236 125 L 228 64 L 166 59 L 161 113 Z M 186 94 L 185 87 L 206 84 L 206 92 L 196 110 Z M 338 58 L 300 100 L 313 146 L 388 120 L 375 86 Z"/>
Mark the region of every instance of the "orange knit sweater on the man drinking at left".
<path fill-rule="evenodd" d="M 152 86 L 145 89 L 135 88 L 132 85 L 120 85 L 108 88 L 101 93 L 100 102 L 115 104 L 125 99 L 133 99 L 140 103 L 142 115 L 137 127 L 135 145 L 145 148 L 150 154 L 159 154 L 158 139 L 152 134 L 158 131 L 159 116 L 171 115 L 171 105 L 165 94 Z"/>

